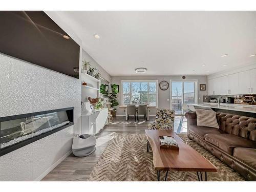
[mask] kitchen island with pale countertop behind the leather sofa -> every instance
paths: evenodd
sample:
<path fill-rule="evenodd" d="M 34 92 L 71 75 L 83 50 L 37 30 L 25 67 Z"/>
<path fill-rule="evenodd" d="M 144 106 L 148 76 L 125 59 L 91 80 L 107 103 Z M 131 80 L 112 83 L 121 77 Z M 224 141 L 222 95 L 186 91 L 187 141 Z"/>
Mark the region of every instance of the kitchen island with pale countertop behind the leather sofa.
<path fill-rule="evenodd" d="M 256 105 L 241 105 L 229 103 L 189 103 L 195 108 L 211 108 L 215 112 L 230 113 L 247 117 L 256 117 Z"/>

